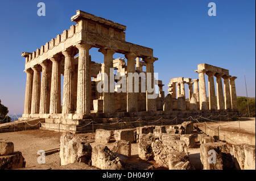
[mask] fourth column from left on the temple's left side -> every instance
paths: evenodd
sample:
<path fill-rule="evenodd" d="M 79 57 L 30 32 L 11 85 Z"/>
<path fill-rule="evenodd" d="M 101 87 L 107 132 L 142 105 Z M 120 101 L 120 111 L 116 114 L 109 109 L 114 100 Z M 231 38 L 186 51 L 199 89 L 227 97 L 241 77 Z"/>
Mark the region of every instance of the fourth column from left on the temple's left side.
<path fill-rule="evenodd" d="M 61 113 L 60 56 L 53 56 L 49 113 Z"/>

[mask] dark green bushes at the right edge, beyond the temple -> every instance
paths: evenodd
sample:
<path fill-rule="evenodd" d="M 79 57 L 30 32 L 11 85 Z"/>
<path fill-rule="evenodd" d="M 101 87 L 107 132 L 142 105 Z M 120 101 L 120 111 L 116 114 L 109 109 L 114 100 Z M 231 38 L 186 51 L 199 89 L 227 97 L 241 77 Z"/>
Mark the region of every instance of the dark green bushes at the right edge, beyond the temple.
<path fill-rule="evenodd" d="M 255 117 L 255 98 L 248 98 L 250 117 Z M 237 96 L 237 108 L 242 115 L 248 116 L 247 98 Z"/>

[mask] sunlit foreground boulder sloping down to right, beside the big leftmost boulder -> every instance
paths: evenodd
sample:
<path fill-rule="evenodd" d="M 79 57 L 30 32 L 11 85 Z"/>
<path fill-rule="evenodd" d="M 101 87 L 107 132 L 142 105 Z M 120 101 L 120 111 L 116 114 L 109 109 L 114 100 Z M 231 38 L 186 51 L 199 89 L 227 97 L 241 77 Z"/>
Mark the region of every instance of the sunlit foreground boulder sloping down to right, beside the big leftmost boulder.
<path fill-rule="evenodd" d="M 92 166 L 106 170 L 120 170 L 122 163 L 115 153 L 109 150 L 108 146 L 97 145 L 92 150 Z"/>

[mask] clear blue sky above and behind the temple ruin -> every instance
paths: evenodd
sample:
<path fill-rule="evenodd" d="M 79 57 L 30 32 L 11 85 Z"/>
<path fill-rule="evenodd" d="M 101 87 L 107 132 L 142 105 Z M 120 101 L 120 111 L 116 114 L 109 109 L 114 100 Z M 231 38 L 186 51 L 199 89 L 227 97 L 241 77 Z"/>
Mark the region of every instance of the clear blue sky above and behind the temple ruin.
<path fill-rule="evenodd" d="M 39 2 L 46 4 L 44 17 L 37 15 Z M 209 2 L 216 3 L 217 16 L 208 16 Z M 207 63 L 238 77 L 239 96 L 246 95 L 246 74 L 248 94 L 255 96 L 254 0 L 1 1 L 0 99 L 10 113 L 23 113 L 26 73 L 21 52 L 32 52 L 68 30 L 76 10 L 125 24 L 126 41 L 153 48 L 159 58 L 155 72 L 166 92 L 170 78 L 198 78 L 197 64 Z M 97 49 L 90 54 L 93 61 L 103 62 Z"/>

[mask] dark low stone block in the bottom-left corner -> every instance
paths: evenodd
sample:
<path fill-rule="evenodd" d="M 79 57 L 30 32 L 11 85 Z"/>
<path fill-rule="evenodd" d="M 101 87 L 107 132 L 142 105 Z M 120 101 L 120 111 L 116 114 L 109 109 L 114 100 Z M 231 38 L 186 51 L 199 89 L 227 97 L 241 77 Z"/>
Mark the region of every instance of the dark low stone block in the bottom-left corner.
<path fill-rule="evenodd" d="M 22 153 L 17 151 L 11 155 L 0 156 L 0 170 L 20 169 L 26 166 Z"/>

